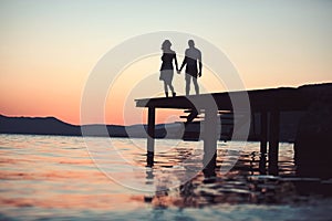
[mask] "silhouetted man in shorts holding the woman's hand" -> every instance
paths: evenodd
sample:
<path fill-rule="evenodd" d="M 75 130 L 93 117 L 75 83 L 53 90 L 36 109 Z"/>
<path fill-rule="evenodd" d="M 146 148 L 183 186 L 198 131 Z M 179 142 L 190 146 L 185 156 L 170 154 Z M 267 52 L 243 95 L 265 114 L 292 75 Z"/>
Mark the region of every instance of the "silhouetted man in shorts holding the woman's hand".
<path fill-rule="evenodd" d="M 185 59 L 179 69 L 179 72 L 186 66 L 186 95 L 189 95 L 190 81 L 193 78 L 196 94 L 199 94 L 199 86 L 197 83 L 197 76 L 201 76 L 201 53 L 195 48 L 195 42 L 193 40 L 188 41 L 189 49 L 186 50 Z M 197 69 L 197 62 L 199 70 Z"/>

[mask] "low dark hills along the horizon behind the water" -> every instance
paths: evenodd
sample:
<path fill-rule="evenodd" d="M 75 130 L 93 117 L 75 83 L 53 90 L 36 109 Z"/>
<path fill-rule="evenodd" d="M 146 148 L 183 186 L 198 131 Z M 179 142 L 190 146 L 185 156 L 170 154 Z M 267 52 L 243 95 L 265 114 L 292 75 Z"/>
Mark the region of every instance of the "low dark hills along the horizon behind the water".
<path fill-rule="evenodd" d="M 146 125 L 118 126 L 118 125 L 98 124 L 98 125 L 85 125 L 83 127 L 85 127 L 84 130 L 87 131 L 84 134 L 84 137 L 118 137 L 118 138 L 128 138 L 128 137 L 146 138 L 147 137 Z M 180 123 L 158 124 L 156 125 L 155 138 L 156 139 L 164 139 L 164 138 L 179 139 L 180 128 L 181 128 Z M 195 133 L 198 138 L 199 128 Z M 30 117 L 7 117 L 3 115 L 0 115 L 0 134 L 83 137 L 81 126 L 70 125 L 54 117 L 30 118 Z M 230 140 L 230 137 L 220 138 L 220 140 Z M 259 139 L 257 138 L 257 136 L 249 135 L 248 139 L 242 141 L 258 141 L 258 140 Z M 281 137 L 281 141 L 292 143 L 293 139 L 290 139 L 289 136 Z"/>

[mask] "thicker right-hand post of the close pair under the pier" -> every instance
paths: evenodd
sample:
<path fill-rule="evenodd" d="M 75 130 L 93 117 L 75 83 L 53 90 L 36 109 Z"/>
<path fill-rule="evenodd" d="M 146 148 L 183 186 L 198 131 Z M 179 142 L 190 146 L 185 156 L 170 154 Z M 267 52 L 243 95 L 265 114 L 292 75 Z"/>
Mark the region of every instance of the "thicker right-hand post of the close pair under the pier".
<path fill-rule="evenodd" d="M 278 175 L 278 154 L 279 154 L 279 110 L 270 114 L 270 139 L 269 139 L 269 173 Z"/>

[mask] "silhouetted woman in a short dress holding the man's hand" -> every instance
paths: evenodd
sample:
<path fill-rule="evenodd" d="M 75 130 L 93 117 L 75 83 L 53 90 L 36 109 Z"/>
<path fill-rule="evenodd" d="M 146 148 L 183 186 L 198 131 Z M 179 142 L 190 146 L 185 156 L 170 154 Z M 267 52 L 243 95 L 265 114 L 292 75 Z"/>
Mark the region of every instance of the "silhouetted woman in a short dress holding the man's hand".
<path fill-rule="evenodd" d="M 174 91 L 174 87 L 172 85 L 173 75 L 174 75 L 174 67 L 173 67 L 173 60 L 175 62 L 176 70 L 178 70 L 177 66 L 177 60 L 176 60 L 176 53 L 170 49 L 172 43 L 169 40 L 165 40 L 162 44 L 163 50 L 163 56 L 162 56 L 162 67 L 160 67 L 160 81 L 164 81 L 164 88 L 165 88 L 165 95 L 168 97 L 168 87 L 172 91 L 172 95 L 176 96 L 176 93 Z"/>

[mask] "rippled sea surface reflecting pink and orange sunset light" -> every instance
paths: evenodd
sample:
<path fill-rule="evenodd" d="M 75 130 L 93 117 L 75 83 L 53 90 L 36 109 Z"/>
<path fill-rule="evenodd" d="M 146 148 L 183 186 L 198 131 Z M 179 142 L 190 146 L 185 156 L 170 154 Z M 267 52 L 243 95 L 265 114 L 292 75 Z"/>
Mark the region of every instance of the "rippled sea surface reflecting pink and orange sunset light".
<path fill-rule="evenodd" d="M 157 140 L 153 168 L 145 145 L 0 135 L 0 220 L 332 219 L 331 197 L 310 191 L 332 181 L 297 178 L 292 144 L 280 144 L 278 177 L 260 175 L 259 143 L 218 143 L 207 173 L 201 143 Z"/>

